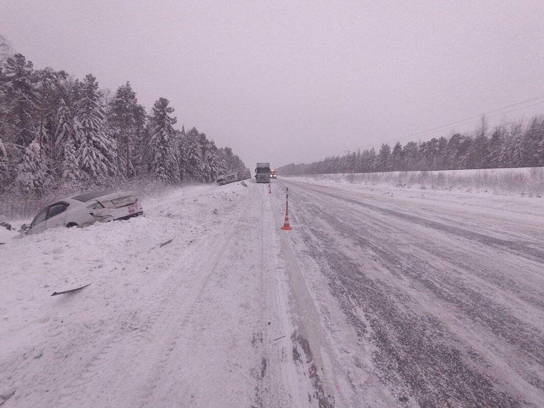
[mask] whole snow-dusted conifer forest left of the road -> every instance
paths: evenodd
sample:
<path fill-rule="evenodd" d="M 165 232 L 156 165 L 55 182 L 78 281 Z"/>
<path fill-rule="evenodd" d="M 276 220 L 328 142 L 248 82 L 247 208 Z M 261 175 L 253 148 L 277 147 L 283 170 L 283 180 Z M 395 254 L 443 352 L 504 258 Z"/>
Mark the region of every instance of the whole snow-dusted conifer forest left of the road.
<path fill-rule="evenodd" d="M 36 69 L 0 37 L 0 193 L 40 197 L 129 180 L 213 182 L 244 167 L 195 127 L 177 123 L 168 99 L 152 112 L 129 82 L 100 90 L 88 74 Z"/>

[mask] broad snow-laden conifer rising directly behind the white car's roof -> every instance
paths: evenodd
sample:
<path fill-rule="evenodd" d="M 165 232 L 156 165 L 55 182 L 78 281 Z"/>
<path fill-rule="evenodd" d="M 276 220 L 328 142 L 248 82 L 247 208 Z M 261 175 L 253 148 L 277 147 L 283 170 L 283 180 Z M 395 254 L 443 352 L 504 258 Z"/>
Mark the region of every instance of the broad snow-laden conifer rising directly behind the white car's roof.
<path fill-rule="evenodd" d="M 116 174 L 117 149 L 115 141 L 104 133 L 104 110 L 100 103 L 96 78 L 88 74 L 82 85 L 75 129 L 79 169 L 92 180 L 103 180 Z"/>

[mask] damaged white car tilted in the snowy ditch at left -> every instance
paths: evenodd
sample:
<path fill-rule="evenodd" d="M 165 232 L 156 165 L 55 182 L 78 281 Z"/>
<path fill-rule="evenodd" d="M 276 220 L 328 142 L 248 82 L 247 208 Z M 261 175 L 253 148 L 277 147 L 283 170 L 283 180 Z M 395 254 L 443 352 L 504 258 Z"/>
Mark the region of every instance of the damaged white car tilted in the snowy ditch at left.
<path fill-rule="evenodd" d="M 143 214 L 144 209 L 132 191 L 98 191 L 53 202 L 21 230 L 36 234 L 54 227 L 85 227 L 95 222 L 127 220 Z"/>

